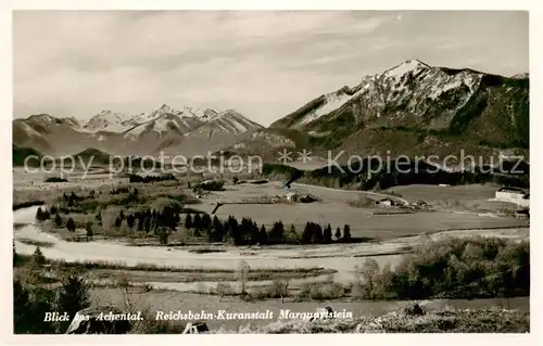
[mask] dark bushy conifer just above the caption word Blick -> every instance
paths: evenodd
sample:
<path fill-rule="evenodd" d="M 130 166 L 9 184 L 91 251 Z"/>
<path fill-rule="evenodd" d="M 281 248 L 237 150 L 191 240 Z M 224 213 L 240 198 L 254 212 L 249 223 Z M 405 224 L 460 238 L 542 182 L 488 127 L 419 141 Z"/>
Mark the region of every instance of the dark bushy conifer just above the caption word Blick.
<path fill-rule="evenodd" d="M 62 281 L 59 295 L 56 298 L 56 306 L 59 311 L 65 311 L 71 317 L 90 305 L 90 287 L 77 274 L 70 274 Z M 64 329 L 67 328 L 70 321 L 64 322 Z"/>

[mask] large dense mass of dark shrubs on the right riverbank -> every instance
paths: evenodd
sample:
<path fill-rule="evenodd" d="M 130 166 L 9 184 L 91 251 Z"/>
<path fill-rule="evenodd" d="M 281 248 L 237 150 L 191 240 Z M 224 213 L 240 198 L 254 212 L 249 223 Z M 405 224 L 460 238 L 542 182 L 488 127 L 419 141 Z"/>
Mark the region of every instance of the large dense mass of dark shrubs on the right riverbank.
<path fill-rule="evenodd" d="M 394 271 L 366 262 L 353 285 L 363 298 L 476 298 L 530 295 L 530 246 L 497 238 L 428 242 Z"/>

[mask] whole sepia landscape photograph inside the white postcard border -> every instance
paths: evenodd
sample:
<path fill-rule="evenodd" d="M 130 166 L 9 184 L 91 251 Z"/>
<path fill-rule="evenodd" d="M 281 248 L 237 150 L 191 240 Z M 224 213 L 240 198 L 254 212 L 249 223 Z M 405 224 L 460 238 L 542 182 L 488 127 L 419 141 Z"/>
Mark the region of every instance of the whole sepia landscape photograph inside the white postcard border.
<path fill-rule="evenodd" d="M 13 10 L 11 332 L 530 333 L 530 21 Z"/>

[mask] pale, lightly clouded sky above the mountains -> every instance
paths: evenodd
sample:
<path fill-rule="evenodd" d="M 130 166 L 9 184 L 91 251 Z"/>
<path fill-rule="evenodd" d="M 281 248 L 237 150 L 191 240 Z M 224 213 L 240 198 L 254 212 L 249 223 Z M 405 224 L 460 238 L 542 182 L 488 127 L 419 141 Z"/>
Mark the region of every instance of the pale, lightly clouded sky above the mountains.
<path fill-rule="evenodd" d="M 264 126 L 403 61 L 529 72 L 528 12 L 14 11 L 14 117 L 162 104 Z"/>

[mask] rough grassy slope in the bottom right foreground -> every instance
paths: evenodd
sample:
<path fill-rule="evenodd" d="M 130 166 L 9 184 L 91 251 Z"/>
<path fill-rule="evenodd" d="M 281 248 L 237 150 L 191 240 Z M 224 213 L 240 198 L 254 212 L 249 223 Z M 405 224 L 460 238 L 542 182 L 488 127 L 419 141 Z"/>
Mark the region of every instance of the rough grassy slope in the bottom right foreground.
<path fill-rule="evenodd" d="M 485 309 L 444 308 L 424 316 L 408 316 L 393 311 L 377 318 L 330 319 L 315 322 L 277 321 L 268 325 L 239 331 L 219 330 L 217 333 L 528 333 L 529 312 L 497 307 Z"/>

